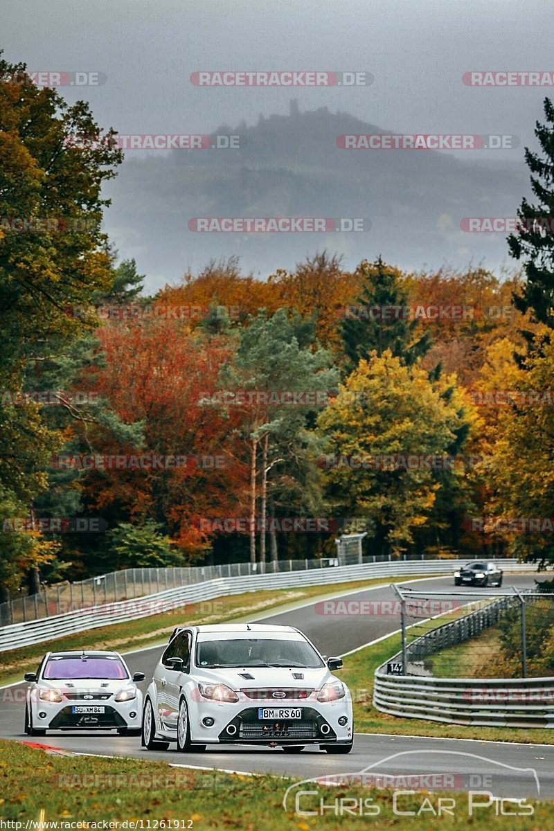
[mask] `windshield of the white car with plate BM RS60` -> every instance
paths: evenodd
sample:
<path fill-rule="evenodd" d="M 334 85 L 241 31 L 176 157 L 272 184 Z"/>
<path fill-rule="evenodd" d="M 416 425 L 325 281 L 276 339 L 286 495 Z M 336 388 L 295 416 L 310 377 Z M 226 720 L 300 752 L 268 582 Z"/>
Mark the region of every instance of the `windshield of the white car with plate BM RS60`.
<path fill-rule="evenodd" d="M 275 638 L 237 638 L 201 641 L 196 647 L 197 666 L 295 666 L 315 669 L 324 666 L 306 641 Z"/>

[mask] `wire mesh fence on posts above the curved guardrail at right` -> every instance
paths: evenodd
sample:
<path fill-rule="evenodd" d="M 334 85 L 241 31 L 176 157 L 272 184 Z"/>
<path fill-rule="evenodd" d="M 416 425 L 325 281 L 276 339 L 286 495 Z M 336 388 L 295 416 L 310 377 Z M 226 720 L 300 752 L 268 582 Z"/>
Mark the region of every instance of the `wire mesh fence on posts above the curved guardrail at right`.
<path fill-rule="evenodd" d="M 403 675 L 527 678 L 554 675 L 554 593 L 400 596 Z"/>

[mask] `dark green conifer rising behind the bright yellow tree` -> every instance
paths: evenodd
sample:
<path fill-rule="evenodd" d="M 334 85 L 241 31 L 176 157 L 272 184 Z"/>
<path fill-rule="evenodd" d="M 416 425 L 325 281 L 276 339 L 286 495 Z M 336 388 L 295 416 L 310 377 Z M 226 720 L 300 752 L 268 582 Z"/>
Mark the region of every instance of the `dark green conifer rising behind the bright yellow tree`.
<path fill-rule="evenodd" d="M 354 307 L 346 307 L 340 332 L 345 352 L 346 371 L 352 371 L 360 359 L 371 352 L 378 356 L 386 350 L 412 366 L 431 346 L 429 332 L 416 332 L 417 320 L 407 313 L 408 293 L 400 283 L 400 273 L 379 257 L 366 260 L 356 269 L 362 290 Z"/>

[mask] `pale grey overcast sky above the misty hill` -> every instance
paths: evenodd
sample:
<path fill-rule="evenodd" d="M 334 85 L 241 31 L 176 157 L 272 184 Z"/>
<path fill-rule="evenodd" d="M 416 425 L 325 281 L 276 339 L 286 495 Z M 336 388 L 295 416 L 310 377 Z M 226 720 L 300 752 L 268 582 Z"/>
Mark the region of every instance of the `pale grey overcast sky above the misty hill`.
<path fill-rule="evenodd" d="M 122 133 L 252 124 L 297 97 L 301 109 L 327 105 L 396 132 L 528 143 L 547 89 L 476 89 L 461 76 L 554 69 L 553 22 L 554 7 L 538 0 L 24 0 L 4 7 L 2 44 L 31 69 L 105 73 L 79 97 Z M 203 69 L 370 71 L 375 81 L 293 93 L 192 86 Z"/>

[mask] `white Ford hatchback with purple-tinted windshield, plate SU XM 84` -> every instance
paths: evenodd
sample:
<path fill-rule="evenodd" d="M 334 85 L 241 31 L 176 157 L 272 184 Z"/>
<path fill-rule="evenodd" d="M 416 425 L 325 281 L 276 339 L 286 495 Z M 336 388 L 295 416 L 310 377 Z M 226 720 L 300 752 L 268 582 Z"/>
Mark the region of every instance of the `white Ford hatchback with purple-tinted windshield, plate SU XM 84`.
<path fill-rule="evenodd" d="M 142 692 L 119 652 L 47 652 L 37 672 L 27 672 L 25 732 L 117 730 L 140 735 Z"/>

